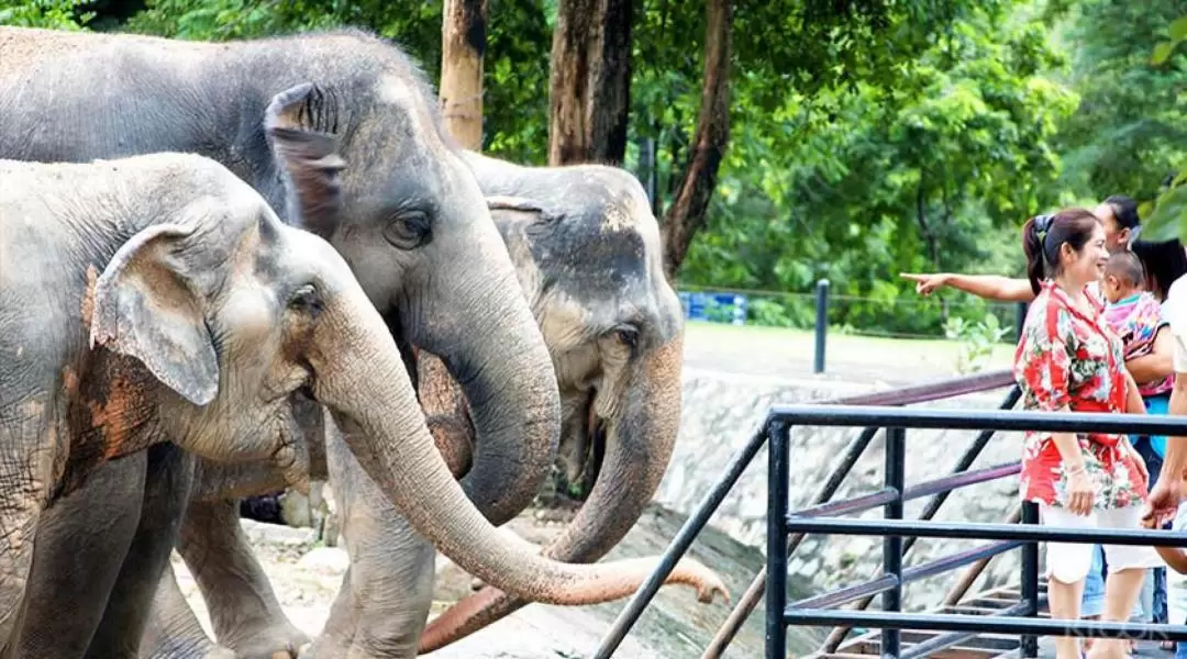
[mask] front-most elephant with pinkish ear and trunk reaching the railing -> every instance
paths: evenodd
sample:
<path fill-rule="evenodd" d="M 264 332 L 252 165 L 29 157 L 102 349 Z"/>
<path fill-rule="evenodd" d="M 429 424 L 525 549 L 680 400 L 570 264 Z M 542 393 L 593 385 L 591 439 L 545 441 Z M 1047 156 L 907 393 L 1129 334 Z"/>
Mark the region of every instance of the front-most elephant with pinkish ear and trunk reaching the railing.
<path fill-rule="evenodd" d="M 349 265 L 222 165 L 178 153 L 6 160 L 0 180 L 5 655 L 27 622 L 30 574 L 43 569 L 32 565 L 39 516 L 58 497 L 96 465 L 166 439 L 216 463 L 269 460 L 299 484 L 310 437 L 294 397 L 320 407 L 412 530 L 490 583 L 580 604 L 629 593 L 654 567 L 569 565 L 493 526 L 442 460 L 400 350 Z M 678 572 L 711 589 L 703 596 L 722 589 L 694 562 Z M 89 595 L 71 607 L 109 606 Z M 127 627 L 142 623 L 104 613 L 88 653 L 134 652 L 139 639 L 95 647 Z"/>

